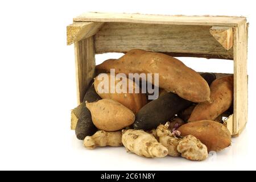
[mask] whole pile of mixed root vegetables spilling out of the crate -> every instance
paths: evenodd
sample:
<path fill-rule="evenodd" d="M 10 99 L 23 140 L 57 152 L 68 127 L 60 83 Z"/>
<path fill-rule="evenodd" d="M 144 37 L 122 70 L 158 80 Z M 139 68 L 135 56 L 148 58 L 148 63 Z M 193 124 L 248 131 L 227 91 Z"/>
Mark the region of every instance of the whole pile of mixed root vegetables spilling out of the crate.
<path fill-rule="evenodd" d="M 231 135 L 220 116 L 232 114 L 233 76 L 200 75 L 174 57 L 141 49 L 96 69 L 159 73 L 160 95 L 150 101 L 145 93 L 100 93 L 94 78 L 82 104 L 72 110 L 72 127 L 86 148 L 124 146 L 146 158 L 205 160 L 209 151 L 230 146 Z"/>

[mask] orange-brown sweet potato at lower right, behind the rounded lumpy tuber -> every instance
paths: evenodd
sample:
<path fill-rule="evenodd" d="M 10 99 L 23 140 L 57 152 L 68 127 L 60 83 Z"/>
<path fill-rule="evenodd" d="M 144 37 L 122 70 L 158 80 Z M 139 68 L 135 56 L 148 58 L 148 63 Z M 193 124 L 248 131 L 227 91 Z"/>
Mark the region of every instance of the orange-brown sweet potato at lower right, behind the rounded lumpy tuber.
<path fill-rule="evenodd" d="M 208 151 L 220 151 L 231 144 L 229 130 L 216 121 L 195 121 L 182 125 L 178 129 L 181 136 L 193 135 L 204 143 Z"/>

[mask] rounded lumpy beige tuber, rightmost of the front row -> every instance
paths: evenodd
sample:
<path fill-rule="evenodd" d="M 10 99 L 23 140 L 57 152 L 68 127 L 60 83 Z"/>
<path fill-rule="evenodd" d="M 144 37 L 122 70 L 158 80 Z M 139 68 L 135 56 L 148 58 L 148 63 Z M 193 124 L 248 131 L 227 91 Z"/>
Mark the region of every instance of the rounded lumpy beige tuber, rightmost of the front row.
<path fill-rule="evenodd" d="M 187 135 L 181 139 L 177 151 L 188 160 L 205 160 L 208 158 L 207 146 L 193 135 Z"/>

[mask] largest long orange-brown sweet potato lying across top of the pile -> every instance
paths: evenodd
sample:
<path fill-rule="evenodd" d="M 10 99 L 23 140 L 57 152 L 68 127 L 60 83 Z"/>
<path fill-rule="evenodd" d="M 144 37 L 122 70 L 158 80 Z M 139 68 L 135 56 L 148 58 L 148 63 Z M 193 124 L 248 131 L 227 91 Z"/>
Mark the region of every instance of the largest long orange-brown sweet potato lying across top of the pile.
<path fill-rule="evenodd" d="M 192 102 L 204 102 L 210 98 L 207 82 L 199 73 L 188 68 L 180 60 L 163 53 L 132 49 L 117 60 L 110 59 L 96 69 L 115 73 L 158 73 L 159 87 Z M 154 79 L 152 79 L 154 84 Z"/>

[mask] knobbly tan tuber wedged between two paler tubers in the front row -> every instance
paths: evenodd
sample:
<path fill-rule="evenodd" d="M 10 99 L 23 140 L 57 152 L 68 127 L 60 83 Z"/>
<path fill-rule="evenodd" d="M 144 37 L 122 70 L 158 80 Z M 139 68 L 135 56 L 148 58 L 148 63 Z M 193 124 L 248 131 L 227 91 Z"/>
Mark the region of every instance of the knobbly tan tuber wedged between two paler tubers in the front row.
<path fill-rule="evenodd" d="M 180 139 L 172 135 L 171 131 L 168 129 L 169 127 L 170 122 L 167 122 L 166 125 L 159 125 L 156 129 L 156 134 L 159 137 L 159 142 L 168 149 L 168 155 L 177 157 L 180 155 L 177 151 L 177 145 Z"/>

